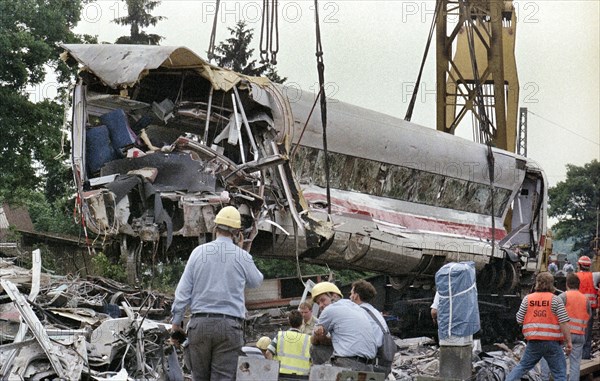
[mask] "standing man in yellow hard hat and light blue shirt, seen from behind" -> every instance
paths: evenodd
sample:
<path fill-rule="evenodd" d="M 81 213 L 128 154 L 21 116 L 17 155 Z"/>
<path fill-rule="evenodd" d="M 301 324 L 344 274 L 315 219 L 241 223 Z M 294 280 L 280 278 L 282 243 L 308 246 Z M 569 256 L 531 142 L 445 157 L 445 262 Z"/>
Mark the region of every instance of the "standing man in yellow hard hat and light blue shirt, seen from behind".
<path fill-rule="evenodd" d="M 187 351 L 192 379 L 233 380 L 244 342 L 244 289 L 261 285 L 263 275 L 252 256 L 234 243 L 241 216 L 226 206 L 215 217 L 215 240 L 192 251 L 175 290 L 172 330 L 183 330 L 189 306 Z"/>

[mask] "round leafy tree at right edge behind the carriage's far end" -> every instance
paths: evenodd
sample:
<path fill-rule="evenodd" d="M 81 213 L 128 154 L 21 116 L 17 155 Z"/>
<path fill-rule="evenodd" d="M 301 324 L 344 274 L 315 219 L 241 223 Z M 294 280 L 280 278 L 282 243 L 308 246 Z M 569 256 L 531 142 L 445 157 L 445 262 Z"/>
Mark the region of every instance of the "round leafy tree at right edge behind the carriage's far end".
<path fill-rule="evenodd" d="M 600 207 L 600 162 L 592 160 L 583 167 L 567 164 L 567 178 L 548 191 L 548 215 L 558 222 L 553 226 L 557 239 L 573 239 L 573 250 L 593 256 L 591 242 L 596 237 Z"/>

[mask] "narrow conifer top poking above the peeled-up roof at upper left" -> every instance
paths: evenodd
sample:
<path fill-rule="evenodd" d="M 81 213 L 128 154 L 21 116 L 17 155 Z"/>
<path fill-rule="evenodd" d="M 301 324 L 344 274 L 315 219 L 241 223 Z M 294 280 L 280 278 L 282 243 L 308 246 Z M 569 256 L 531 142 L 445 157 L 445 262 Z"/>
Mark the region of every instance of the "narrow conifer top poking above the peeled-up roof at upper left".
<path fill-rule="evenodd" d="M 156 24 L 165 19 L 164 16 L 152 16 L 151 12 L 160 5 L 160 1 L 153 0 L 123 0 L 127 4 L 127 16 L 117 17 L 113 22 L 119 25 L 129 25 L 130 35 L 121 36 L 116 44 L 159 45 L 164 38 L 158 34 L 146 33 L 143 28 Z"/>

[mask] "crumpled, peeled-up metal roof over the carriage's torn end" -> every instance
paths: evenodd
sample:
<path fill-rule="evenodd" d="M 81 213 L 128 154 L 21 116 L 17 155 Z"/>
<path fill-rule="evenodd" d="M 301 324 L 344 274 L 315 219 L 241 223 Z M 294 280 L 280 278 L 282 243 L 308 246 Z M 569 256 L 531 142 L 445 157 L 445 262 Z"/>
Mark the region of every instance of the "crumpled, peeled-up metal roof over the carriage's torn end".
<path fill-rule="evenodd" d="M 232 70 L 211 65 L 193 51 L 177 46 L 63 44 L 63 59 L 73 57 L 82 66 L 102 80 L 107 86 L 131 87 L 152 69 L 196 70 L 209 80 L 215 90 L 228 91 L 240 81 L 267 86 L 267 78 L 249 77 Z"/>

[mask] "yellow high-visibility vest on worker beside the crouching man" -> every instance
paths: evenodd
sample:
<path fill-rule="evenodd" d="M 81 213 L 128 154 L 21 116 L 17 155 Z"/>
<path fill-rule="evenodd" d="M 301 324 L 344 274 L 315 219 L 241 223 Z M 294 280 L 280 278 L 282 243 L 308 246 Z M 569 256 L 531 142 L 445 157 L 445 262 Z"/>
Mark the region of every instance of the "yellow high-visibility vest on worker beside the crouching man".
<path fill-rule="evenodd" d="M 298 331 L 277 333 L 279 373 L 308 375 L 310 371 L 310 336 Z"/>

